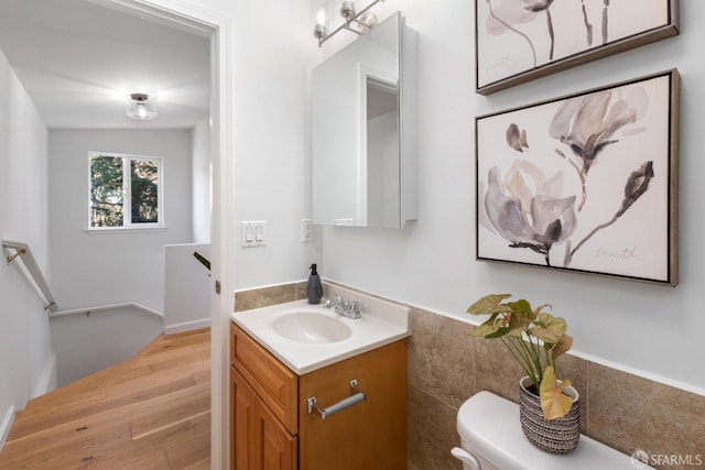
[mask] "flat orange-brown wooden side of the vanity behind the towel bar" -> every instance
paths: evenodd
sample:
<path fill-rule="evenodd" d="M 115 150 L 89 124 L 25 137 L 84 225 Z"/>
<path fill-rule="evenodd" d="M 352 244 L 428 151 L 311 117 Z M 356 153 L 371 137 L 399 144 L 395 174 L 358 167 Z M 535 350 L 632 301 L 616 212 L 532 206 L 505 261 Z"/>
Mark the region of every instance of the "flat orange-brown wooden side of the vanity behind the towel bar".
<path fill-rule="evenodd" d="M 356 379 L 367 398 L 321 419 L 321 407 L 349 396 Z M 302 470 L 406 470 L 406 340 L 399 340 L 300 378 Z"/>

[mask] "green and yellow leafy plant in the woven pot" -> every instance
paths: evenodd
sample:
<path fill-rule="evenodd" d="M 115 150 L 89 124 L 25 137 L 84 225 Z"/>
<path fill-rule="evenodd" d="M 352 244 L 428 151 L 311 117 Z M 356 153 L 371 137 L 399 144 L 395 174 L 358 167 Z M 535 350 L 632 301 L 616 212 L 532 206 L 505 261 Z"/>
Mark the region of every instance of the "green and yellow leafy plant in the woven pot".
<path fill-rule="evenodd" d="M 531 378 L 541 397 L 543 416 L 554 419 L 565 416 L 573 400 L 563 393 L 570 380 L 556 380 L 555 360 L 573 346 L 565 334 L 563 318 L 545 313 L 547 304 L 531 308 L 525 299 L 505 302 L 511 294 L 490 294 L 470 305 L 471 315 L 489 315 L 487 321 L 473 329 L 475 338 L 499 338 Z"/>

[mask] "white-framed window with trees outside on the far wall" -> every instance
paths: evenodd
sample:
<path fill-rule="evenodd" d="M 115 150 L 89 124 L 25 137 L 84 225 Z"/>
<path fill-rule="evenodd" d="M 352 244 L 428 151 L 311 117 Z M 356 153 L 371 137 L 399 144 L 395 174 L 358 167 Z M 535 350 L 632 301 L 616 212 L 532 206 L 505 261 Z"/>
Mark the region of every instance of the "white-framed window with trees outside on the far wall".
<path fill-rule="evenodd" d="M 162 161 L 137 155 L 90 153 L 89 227 L 163 227 Z"/>

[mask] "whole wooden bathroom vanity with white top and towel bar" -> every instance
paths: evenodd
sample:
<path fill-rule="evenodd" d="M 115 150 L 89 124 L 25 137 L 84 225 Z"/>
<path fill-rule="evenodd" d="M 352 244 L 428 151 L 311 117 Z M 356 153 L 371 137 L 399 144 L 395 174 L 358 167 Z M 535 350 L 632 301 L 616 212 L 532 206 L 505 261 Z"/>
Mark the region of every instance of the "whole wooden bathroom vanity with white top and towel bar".
<path fill-rule="evenodd" d="M 232 469 L 406 468 L 409 311 L 361 305 L 232 315 Z"/>

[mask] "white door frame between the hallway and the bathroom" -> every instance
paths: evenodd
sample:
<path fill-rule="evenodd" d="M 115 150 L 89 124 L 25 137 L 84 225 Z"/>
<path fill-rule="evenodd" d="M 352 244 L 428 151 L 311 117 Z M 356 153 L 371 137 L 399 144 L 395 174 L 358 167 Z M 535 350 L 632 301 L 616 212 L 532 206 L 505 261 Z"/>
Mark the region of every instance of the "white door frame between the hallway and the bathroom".
<path fill-rule="evenodd" d="M 186 0 L 88 0 L 210 40 L 210 468 L 230 464 L 229 325 L 235 311 L 232 18 Z"/>

